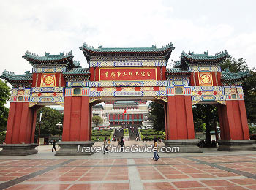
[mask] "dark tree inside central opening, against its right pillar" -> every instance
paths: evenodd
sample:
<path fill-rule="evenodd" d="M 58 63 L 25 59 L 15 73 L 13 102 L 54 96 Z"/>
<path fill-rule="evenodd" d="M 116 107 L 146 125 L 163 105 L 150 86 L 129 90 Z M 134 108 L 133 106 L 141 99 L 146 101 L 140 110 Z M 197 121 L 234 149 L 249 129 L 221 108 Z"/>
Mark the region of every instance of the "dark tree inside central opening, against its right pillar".
<path fill-rule="evenodd" d="M 153 129 L 165 130 L 165 108 L 162 104 L 151 102 L 149 104 L 148 119 L 153 121 Z"/>

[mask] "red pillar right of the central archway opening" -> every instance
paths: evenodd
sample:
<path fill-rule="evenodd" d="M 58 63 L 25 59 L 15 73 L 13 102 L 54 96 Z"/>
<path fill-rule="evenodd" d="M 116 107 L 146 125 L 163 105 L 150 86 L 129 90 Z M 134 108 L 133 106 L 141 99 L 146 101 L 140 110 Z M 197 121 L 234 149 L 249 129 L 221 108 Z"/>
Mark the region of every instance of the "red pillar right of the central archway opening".
<path fill-rule="evenodd" d="M 195 138 L 191 96 L 168 96 L 165 114 L 167 140 Z"/>

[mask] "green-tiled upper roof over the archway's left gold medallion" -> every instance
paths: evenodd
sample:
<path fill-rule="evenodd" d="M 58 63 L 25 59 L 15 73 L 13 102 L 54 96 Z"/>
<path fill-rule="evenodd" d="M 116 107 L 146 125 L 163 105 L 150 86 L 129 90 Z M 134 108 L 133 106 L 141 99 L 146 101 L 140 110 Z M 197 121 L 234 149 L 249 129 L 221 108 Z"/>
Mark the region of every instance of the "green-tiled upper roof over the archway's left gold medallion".
<path fill-rule="evenodd" d="M 35 65 L 50 65 L 50 64 L 61 64 L 66 65 L 71 68 L 77 68 L 80 67 L 79 61 L 73 61 L 73 54 L 72 51 L 69 53 L 59 53 L 59 55 L 50 55 L 50 53 L 45 53 L 45 56 L 38 56 L 35 53 L 30 53 L 29 51 L 26 51 L 25 55 L 22 56 L 22 58 L 25 58 L 32 66 Z"/>

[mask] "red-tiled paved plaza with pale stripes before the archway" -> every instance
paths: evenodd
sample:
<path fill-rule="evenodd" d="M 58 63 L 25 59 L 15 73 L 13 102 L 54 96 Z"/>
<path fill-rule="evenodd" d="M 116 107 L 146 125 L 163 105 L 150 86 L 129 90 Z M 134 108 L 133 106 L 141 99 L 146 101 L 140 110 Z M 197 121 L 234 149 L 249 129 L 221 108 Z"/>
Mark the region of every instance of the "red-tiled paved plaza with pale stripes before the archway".
<path fill-rule="evenodd" d="M 256 151 L 203 148 L 203 153 L 159 153 L 159 161 L 152 156 L 54 156 L 50 146 L 40 146 L 36 155 L 0 156 L 0 189 L 256 189 Z"/>

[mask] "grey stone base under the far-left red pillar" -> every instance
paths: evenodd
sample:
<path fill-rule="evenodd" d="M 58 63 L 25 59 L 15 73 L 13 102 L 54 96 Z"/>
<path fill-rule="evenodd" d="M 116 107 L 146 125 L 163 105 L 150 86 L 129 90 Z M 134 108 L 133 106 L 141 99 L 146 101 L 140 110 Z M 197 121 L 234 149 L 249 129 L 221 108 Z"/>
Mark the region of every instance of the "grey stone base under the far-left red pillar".
<path fill-rule="evenodd" d="M 35 149 L 38 144 L 5 144 L 0 145 L 3 150 L 0 151 L 0 155 L 10 156 L 25 156 L 38 153 Z"/>

